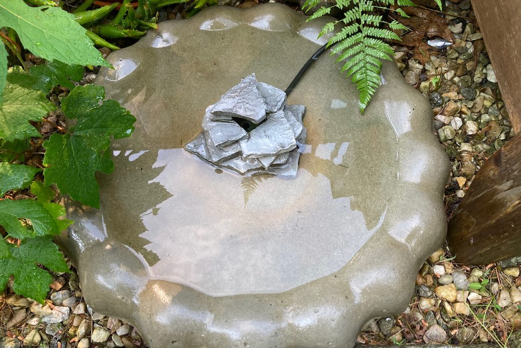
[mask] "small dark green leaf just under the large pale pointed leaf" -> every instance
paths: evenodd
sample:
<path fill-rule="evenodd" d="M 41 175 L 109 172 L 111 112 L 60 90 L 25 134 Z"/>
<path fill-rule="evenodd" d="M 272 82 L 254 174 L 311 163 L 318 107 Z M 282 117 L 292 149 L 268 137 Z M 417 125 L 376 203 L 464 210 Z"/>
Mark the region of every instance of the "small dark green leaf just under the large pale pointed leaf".
<path fill-rule="evenodd" d="M 34 88 L 45 93 L 58 85 L 73 89 L 75 85 L 72 81 L 81 80 L 84 73 L 81 65 L 68 65 L 58 61 L 33 66 L 29 71 L 36 78 Z"/>

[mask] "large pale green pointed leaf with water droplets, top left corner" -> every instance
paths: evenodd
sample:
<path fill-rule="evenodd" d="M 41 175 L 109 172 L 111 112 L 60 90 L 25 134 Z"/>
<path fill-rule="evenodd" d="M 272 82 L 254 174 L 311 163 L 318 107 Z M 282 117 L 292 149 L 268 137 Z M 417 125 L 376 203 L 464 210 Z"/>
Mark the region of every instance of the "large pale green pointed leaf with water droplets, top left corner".
<path fill-rule="evenodd" d="M 110 66 L 75 17 L 59 7 L 30 7 L 23 0 L 3 0 L 0 23 L 13 28 L 26 49 L 48 61 Z"/>

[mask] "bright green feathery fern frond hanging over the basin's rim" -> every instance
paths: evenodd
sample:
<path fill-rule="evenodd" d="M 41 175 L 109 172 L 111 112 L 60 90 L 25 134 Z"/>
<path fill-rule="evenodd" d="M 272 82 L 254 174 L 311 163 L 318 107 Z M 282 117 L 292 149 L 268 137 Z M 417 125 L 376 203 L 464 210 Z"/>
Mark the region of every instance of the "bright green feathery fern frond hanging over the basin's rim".
<path fill-rule="evenodd" d="M 302 9 L 307 12 L 318 3 L 319 0 L 306 0 Z M 441 9 L 441 0 L 436 0 L 436 3 Z M 399 35 L 393 30 L 407 29 L 398 21 L 387 21 L 377 14 L 377 10 L 388 10 L 408 17 L 396 5 L 415 6 L 411 0 L 336 0 L 336 5 L 321 7 L 308 18 L 309 21 L 328 15 L 335 7 L 344 11 L 344 18 L 326 23 L 318 37 L 332 32 L 339 23 L 343 24 L 343 28 L 329 39 L 328 47 L 334 45 L 331 54 L 338 55 L 337 62 L 344 62 L 342 71 L 355 83 L 362 113 L 382 83 L 382 59 L 392 61 L 394 55 L 392 47 L 384 40 L 400 41 Z M 389 29 L 382 28 L 383 25 Z"/>

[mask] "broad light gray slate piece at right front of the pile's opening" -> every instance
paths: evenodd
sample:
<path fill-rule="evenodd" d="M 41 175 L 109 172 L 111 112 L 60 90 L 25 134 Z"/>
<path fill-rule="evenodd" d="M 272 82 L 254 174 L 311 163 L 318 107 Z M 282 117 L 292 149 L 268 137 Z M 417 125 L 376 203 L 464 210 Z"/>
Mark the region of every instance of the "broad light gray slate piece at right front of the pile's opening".
<path fill-rule="evenodd" d="M 271 114 L 267 121 L 250 132 L 250 138 L 240 141 L 244 157 L 278 155 L 296 147 L 295 136 L 284 112 Z"/>

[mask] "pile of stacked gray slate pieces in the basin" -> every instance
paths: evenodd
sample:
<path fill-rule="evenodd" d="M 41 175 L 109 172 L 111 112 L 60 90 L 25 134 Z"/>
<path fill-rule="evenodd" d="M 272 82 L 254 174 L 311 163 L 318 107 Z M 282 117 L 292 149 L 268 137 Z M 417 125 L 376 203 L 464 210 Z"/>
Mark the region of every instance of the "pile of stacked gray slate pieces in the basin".
<path fill-rule="evenodd" d="M 286 104 L 286 93 L 249 75 L 206 109 L 203 131 L 184 148 L 215 166 L 241 175 L 293 178 L 306 128 L 304 105 Z M 247 132 L 234 119 L 256 127 Z"/>

